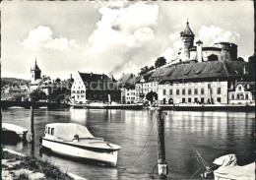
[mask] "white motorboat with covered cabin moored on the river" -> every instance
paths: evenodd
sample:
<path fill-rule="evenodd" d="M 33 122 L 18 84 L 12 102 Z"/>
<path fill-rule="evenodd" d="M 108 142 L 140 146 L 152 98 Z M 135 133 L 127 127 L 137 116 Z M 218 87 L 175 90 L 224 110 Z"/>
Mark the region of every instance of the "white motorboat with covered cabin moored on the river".
<path fill-rule="evenodd" d="M 116 166 L 117 153 L 121 147 L 94 137 L 82 125 L 52 123 L 45 126 L 41 146 L 53 152 Z"/>

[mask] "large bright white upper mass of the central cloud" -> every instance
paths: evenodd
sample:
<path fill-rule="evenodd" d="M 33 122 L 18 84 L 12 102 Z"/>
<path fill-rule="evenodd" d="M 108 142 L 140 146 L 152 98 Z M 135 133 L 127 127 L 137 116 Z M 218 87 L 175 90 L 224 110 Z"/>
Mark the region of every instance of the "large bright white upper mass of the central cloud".
<path fill-rule="evenodd" d="M 158 20 L 159 7 L 142 2 L 126 8 L 102 7 L 101 20 L 89 38 L 91 50 L 108 51 L 116 48 L 140 47 L 154 39 L 152 29 Z"/>

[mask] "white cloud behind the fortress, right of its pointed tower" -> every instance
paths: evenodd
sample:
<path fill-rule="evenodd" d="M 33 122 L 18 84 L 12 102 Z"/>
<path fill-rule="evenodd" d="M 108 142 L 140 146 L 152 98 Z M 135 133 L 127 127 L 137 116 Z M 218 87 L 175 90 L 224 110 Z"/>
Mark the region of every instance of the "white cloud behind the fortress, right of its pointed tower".
<path fill-rule="evenodd" d="M 226 42 L 237 42 L 240 34 L 236 31 L 224 30 L 219 27 L 203 26 L 199 30 L 199 39 L 201 39 L 206 45 L 213 45 L 216 42 L 226 41 Z"/>

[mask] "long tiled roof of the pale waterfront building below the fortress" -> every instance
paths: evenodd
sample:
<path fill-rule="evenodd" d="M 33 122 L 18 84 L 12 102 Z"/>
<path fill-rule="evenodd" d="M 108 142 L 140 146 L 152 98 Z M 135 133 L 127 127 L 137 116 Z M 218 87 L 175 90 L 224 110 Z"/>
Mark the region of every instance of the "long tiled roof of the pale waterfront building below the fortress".
<path fill-rule="evenodd" d="M 175 67 L 169 67 L 168 72 L 161 78 L 160 83 L 244 76 L 254 79 L 254 72 L 253 66 L 249 63 L 230 60 L 179 64 Z"/>

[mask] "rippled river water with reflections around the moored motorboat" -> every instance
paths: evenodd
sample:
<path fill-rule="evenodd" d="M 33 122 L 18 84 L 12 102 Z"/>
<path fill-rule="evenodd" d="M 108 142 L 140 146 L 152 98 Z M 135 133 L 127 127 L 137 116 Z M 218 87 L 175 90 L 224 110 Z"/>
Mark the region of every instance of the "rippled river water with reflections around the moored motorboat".
<path fill-rule="evenodd" d="M 190 178 L 198 169 L 193 148 L 212 165 L 215 158 L 235 153 L 238 164 L 254 160 L 254 113 L 167 111 L 164 116 L 165 151 L 169 178 Z M 3 122 L 30 129 L 30 110 L 3 110 Z M 35 154 L 39 155 L 39 137 L 47 123 L 78 123 L 106 141 L 122 147 L 117 167 L 109 168 L 42 153 L 64 170 L 87 179 L 150 179 L 157 163 L 157 124 L 153 110 L 35 109 Z M 144 150 L 151 128 L 153 131 Z M 30 154 L 31 145 L 4 145 L 4 148 Z M 138 157 L 138 154 L 141 152 Z M 137 158 L 138 157 L 138 158 Z M 131 166 L 131 164 L 133 164 Z M 155 171 L 157 173 L 157 171 Z M 157 177 L 157 176 L 156 176 Z M 200 176 L 195 176 L 199 178 Z"/>

